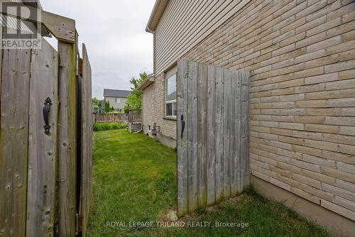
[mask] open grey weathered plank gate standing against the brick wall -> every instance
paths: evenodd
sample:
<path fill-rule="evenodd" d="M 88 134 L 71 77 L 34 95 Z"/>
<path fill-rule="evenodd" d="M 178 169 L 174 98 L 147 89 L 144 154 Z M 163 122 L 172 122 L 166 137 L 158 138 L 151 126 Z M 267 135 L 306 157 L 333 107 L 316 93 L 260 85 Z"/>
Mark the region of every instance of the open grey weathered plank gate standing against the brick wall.
<path fill-rule="evenodd" d="M 249 72 L 178 61 L 178 216 L 249 184 Z"/>

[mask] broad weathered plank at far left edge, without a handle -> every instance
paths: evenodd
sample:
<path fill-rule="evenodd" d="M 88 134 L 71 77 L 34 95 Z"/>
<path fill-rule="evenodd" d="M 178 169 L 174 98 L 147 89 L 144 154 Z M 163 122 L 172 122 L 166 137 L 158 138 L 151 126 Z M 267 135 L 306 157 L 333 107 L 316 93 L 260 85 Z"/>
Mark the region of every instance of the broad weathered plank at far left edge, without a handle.
<path fill-rule="evenodd" d="M 26 236 L 31 50 L 4 50 L 1 84 L 0 230 Z"/>

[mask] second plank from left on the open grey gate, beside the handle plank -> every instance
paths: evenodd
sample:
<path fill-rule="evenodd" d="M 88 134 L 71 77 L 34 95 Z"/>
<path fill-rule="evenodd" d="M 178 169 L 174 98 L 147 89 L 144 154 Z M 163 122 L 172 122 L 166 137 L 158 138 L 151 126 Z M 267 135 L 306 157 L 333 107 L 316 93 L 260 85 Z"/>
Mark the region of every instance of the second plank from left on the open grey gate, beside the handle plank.
<path fill-rule="evenodd" d="M 189 62 L 188 89 L 187 89 L 187 133 L 188 133 L 188 207 L 189 212 L 197 210 L 197 136 L 198 136 L 198 114 L 197 114 L 197 62 Z"/>

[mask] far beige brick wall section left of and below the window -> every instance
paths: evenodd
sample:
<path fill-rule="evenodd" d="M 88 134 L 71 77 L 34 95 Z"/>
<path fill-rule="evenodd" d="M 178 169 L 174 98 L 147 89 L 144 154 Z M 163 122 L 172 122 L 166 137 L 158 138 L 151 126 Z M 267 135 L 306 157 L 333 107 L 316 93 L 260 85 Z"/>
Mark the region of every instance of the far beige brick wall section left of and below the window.
<path fill-rule="evenodd" d="M 143 126 L 160 126 L 163 136 L 176 140 L 176 121 L 164 119 L 165 115 L 164 73 L 155 77 L 155 82 L 143 91 Z M 146 131 L 146 129 L 145 129 Z"/>

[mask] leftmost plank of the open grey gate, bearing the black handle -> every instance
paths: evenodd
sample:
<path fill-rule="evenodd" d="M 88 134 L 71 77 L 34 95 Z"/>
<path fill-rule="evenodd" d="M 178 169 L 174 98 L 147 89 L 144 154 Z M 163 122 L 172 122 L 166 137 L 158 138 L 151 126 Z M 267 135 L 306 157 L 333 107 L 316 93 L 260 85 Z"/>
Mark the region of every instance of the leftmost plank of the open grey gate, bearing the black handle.
<path fill-rule="evenodd" d="M 178 61 L 177 77 L 177 99 L 178 99 L 178 216 L 185 216 L 188 213 L 187 199 L 187 61 Z M 182 133 L 182 120 L 185 122 Z M 182 136 L 183 135 L 183 136 Z"/>

